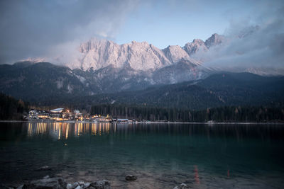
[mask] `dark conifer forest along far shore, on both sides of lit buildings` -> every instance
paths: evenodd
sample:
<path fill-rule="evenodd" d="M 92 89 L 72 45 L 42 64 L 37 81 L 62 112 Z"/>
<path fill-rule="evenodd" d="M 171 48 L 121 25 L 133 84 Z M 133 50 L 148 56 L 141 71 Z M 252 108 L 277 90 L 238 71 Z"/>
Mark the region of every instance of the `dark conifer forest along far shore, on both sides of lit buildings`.
<path fill-rule="evenodd" d="M 0 93 L 0 120 L 22 120 L 30 105 Z M 33 107 L 34 108 L 34 107 Z M 46 108 L 46 107 L 45 107 Z M 75 107 L 65 107 L 73 109 Z M 82 110 L 81 110 L 82 111 Z M 83 110 L 86 112 L 86 109 Z M 151 120 L 161 122 L 284 122 L 283 105 L 276 106 L 224 106 L 204 110 L 158 108 L 148 105 L 99 104 L 92 105 L 86 113 L 110 115 L 112 118 Z"/>

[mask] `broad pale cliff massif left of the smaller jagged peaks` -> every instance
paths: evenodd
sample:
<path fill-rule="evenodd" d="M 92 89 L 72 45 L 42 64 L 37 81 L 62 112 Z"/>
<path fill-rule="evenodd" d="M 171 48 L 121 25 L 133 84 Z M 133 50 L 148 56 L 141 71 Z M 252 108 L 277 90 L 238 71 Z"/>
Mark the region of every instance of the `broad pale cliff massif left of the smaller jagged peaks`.
<path fill-rule="evenodd" d="M 146 71 L 171 64 L 162 50 L 148 42 L 133 41 L 118 45 L 109 40 L 92 38 L 80 46 L 80 52 L 82 59 L 75 68 L 83 70 L 97 70 L 112 65 L 115 68 L 130 66 L 135 70 Z"/>

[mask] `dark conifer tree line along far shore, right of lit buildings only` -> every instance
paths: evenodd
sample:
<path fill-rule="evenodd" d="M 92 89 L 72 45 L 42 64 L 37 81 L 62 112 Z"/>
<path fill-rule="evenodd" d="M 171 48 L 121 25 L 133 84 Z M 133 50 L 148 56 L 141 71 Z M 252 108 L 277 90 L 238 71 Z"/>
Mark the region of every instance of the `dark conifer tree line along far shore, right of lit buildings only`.
<path fill-rule="evenodd" d="M 90 114 L 111 115 L 113 118 L 170 122 L 281 122 L 284 108 L 226 106 L 205 110 L 180 110 L 177 108 L 151 108 L 129 105 L 92 105 Z"/>

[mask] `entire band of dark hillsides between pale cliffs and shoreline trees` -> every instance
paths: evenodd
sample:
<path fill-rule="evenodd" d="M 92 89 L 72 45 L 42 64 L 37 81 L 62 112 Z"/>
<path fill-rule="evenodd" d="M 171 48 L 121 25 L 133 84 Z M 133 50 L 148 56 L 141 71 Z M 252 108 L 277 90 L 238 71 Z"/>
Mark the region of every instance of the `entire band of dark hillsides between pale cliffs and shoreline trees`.
<path fill-rule="evenodd" d="M 175 67 L 154 71 L 151 78 L 156 84 L 146 78 L 147 74 L 132 75 L 129 69 L 117 72 L 106 67 L 82 71 L 48 62 L 4 64 L 0 65 L 0 92 L 37 105 L 116 103 L 201 110 L 284 102 L 283 76 L 224 72 L 188 81 L 190 78 L 185 79 L 186 76 L 195 76 L 190 69 L 195 66 L 182 61 Z M 172 81 L 184 82 L 171 84 Z"/>

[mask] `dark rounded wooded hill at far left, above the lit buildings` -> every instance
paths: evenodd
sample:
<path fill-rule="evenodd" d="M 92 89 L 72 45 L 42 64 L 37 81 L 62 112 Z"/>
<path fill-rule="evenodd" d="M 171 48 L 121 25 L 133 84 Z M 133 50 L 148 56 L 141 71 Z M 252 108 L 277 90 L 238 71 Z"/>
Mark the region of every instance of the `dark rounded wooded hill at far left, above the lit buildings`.
<path fill-rule="evenodd" d="M 26 101 L 91 94 L 84 79 L 67 67 L 48 62 L 0 65 L 0 91 Z"/>

